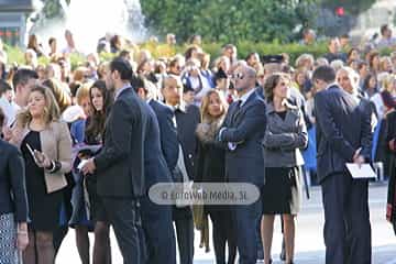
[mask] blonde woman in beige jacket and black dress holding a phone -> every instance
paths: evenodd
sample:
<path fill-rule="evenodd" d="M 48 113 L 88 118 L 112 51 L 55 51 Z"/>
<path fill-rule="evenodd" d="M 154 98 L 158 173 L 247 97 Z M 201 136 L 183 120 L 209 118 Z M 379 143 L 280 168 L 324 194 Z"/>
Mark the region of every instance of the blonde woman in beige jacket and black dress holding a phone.
<path fill-rule="evenodd" d="M 29 201 L 29 245 L 25 264 L 53 264 L 53 232 L 59 227 L 65 174 L 72 167 L 72 139 L 51 90 L 35 86 L 28 108 L 16 116 L 11 143 L 25 161 Z"/>

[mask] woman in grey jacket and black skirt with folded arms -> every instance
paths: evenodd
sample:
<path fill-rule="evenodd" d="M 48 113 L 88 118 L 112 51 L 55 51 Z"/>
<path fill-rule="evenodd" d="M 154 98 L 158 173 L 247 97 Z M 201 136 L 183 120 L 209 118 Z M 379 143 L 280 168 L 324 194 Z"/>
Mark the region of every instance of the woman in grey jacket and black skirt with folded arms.
<path fill-rule="evenodd" d="M 265 82 L 267 128 L 265 131 L 262 237 L 264 261 L 271 263 L 271 245 L 275 215 L 282 215 L 286 263 L 293 263 L 295 216 L 301 201 L 299 166 L 304 164 L 300 148 L 308 143 L 304 116 L 287 102 L 290 79 L 274 74 Z"/>

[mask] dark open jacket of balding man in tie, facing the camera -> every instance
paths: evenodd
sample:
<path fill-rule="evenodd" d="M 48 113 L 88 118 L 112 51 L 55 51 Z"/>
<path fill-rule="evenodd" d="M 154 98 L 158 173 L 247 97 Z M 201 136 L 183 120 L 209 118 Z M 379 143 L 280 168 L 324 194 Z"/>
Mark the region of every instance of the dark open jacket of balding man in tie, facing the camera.
<path fill-rule="evenodd" d="M 190 179 L 195 178 L 194 164 L 197 155 L 196 129 L 200 120 L 199 108 L 190 105 L 185 111 L 176 110 L 177 138 L 182 144 L 186 170 Z"/>

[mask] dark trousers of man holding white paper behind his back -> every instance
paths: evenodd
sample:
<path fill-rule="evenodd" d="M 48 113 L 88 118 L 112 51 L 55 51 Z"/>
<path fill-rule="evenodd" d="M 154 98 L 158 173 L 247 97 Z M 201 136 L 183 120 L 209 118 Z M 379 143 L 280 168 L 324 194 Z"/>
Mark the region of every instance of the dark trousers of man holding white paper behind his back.
<path fill-rule="evenodd" d="M 369 182 L 346 173 L 322 183 L 327 264 L 370 264 L 372 258 Z"/>

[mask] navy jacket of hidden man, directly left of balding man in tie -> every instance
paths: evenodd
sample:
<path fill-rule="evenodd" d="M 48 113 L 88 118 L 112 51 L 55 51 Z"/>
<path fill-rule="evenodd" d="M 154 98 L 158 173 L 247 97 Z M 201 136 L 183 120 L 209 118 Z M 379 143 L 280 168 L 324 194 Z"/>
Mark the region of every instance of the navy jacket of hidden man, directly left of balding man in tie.
<path fill-rule="evenodd" d="M 178 158 L 177 129 L 172 120 L 174 113 L 162 102 L 151 100 L 148 105 L 157 117 L 161 134 L 161 148 L 169 172 L 173 172 Z"/>

